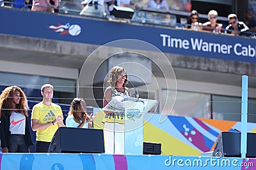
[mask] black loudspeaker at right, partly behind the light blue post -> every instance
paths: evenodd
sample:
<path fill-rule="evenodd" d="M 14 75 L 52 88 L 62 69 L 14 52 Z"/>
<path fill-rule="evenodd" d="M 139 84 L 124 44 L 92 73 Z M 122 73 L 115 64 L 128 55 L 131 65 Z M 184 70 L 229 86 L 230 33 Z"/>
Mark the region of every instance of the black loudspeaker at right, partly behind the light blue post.
<path fill-rule="evenodd" d="M 246 157 L 256 157 L 256 133 L 247 133 Z M 214 157 L 241 157 L 241 132 L 221 132 L 212 153 Z"/>

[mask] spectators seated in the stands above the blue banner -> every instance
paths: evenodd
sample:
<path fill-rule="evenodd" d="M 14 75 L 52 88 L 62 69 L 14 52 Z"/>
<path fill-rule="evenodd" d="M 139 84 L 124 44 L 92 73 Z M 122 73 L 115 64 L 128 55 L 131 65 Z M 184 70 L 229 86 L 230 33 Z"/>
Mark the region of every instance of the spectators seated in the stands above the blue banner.
<path fill-rule="evenodd" d="M 64 1 L 64 0 L 63 0 Z M 78 0 L 79 1 L 79 0 Z M 256 20 L 253 18 L 253 10 L 250 9 L 246 11 L 244 17 L 239 20 L 235 13 L 230 13 L 227 16 L 228 24 L 223 24 L 218 22 L 218 11 L 211 10 L 207 14 L 207 22 L 200 22 L 200 17 L 196 10 L 191 10 L 191 3 L 189 1 L 182 1 L 182 3 L 176 3 L 172 1 L 172 9 L 177 8 L 180 10 L 181 8 L 177 7 L 179 5 L 183 6 L 183 10 L 191 11 L 188 21 L 186 24 L 183 24 L 182 27 L 186 29 L 192 29 L 194 31 L 209 31 L 214 33 L 227 33 L 239 36 L 255 36 L 256 32 Z M 147 0 L 147 4 L 138 4 L 138 1 L 133 0 L 80 0 L 81 3 L 81 11 L 80 15 L 87 15 L 89 13 L 100 12 L 103 15 L 113 15 L 114 6 L 120 6 L 124 8 L 132 8 L 133 10 L 140 10 L 141 8 L 149 8 L 157 11 L 168 11 L 170 10 L 170 2 L 166 2 L 166 0 Z M 60 1 L 61 3 L 61 1 Z M 30 5 L 28 5 L 30 4 Z M 169 5 L 168 5 L 169 4 Z M 178 5 L 179 4 L 179 5 Z M 12 7 L 15 8 L 31 8 L 32 11 L 47 11 L 54 13 L 58 11 L 59 8 L 58 0 L 13 0 Z M 4 6 L 4 1 L 0 0 L 0 6 Z M 176 6 L 176 7 L 175 7 Z M 92 8 L 92 10 L 90 10 Z M 159 21 L 159 18 L 161 22 Z M 153 19 L 154 20 L 154 19 Z M 151 21 L 149 21 L 150 23 Z M 164 24 L 164 25 L 172 25 L 170 24 L 171 15 L 170 13 L 166 13 L 161 17 L 158 17 L 151 23 L 154 24 Z"/>

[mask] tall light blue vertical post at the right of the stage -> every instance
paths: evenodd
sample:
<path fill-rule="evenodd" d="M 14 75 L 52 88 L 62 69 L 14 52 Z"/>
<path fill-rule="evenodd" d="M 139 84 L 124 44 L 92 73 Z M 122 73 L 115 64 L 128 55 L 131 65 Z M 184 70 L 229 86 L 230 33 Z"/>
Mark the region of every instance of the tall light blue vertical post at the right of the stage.
<path fill-rule="evenodd" d="M 247 148 L 248 76 L 242 76 L 241 103 L 241 157 L 246 157 Z"/>

